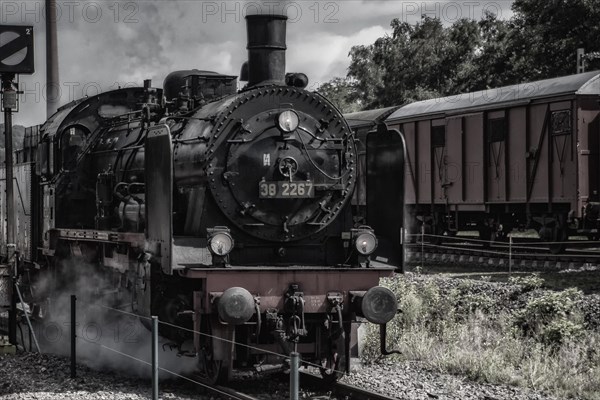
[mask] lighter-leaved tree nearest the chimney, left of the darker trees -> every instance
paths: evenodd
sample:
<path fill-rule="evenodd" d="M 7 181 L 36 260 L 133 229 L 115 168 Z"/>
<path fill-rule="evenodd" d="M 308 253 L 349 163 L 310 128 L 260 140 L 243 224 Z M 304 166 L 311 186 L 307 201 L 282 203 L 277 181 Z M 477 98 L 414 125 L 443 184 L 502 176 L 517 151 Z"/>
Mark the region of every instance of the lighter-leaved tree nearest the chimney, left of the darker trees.
<path fill-rule="evenodd" d="M 453 92 L 468 82 L 478 43 L 474 21 L 444 28 L 438 19 L 411 25 L 394 19 L 392 35 L 350 52 L 348 77 L 367 108 L 399 105 Z"/>

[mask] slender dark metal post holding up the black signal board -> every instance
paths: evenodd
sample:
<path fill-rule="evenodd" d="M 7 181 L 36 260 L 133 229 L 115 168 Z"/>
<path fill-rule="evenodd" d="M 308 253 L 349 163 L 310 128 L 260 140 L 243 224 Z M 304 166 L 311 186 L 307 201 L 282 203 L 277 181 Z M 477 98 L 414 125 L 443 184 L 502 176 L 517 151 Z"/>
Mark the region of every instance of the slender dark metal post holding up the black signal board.
<path fill-rule="evenodd" d="M 14 287 L 17 284 L 17 263 L 15 258 L 15 203 L 13 192 L 13 143 L 12 112 L 17 108 L 17 91 L 14 89 L 15 74 L 2 75 L 2 91 L 4 107 L 4 159 L 6 165 L 6 255 L 8 264 L 12 265 L 13 294 L 8 316 L 8 337 L 12 344 L 17 344 L 17 295 Z"/>

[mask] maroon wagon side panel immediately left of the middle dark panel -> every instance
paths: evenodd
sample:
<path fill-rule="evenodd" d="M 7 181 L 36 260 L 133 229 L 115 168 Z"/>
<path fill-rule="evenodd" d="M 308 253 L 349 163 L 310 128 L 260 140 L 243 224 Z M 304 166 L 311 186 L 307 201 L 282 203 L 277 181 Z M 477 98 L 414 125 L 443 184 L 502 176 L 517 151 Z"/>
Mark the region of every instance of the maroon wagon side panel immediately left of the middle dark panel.
<path fill-rule="evenodd" d="M 485 209 L 483 114 L 464 117 L 464 141 L 465 209 L 482 211 Z"/>

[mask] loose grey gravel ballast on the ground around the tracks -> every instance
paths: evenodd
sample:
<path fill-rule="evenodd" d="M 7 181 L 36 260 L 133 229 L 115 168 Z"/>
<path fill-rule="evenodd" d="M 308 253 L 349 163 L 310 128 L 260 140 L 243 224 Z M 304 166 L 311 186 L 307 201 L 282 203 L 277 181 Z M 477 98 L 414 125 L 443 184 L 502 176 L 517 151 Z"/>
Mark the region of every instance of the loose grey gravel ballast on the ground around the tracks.
<path fill-rule="evenodd" d="M 423 277 L 408 274 L 408 279 L 416 281 L 436 280 L 441 288 L 451 290 L 461 280 L 445 277 Z M 506 302 L 509 307 L 519 307 L 523 299 L 511 298 L 513 287 L 507 284 L 476 282 L 476 290 L 481 290 Z M 528 293 L 528 296 L 535 295 Z M 584 296 L 581 309 L 588 316 L 591 327 L 597 327 L 600 296 Z M 590 323 L 591 322 L 591 323 Z M 0 399 L 1 400 L 58 400 L 58 399 L 151 399 L 151 382 L 127 371 L 111 372 L 95 370 L 78 365 L 77 378 L 70 378 L 69 359 L 50 354 L 19 352 L 16 355 L 0 355 Z M 248 378 L 254 379 L 254 378 Z M 363 366 L 357 365 L 343 378 L 343 382 L 361 388 L 374 390 L 398 399 L 456 399 L 456 400 L 557 400 L 542 392 L 516 388 L 508 385 L 490 385 L 468 379 L 428 370 L 418 362 L 382 362 Z M 289 399 L 288 384 L 285 379 L 263 378 L 256 383 L 235 384 L 238 390 L 250 390 L 261 399 Z M 310 399 L 315 393 L 303 392 L 302 399 Z M 335 399 L 327 394 L 319 398 Z M 325 397 L 323 397 L 325 396 Z M 183 380 L 161 381 L 161 399 L 219 399 L 216 394 Z"/>

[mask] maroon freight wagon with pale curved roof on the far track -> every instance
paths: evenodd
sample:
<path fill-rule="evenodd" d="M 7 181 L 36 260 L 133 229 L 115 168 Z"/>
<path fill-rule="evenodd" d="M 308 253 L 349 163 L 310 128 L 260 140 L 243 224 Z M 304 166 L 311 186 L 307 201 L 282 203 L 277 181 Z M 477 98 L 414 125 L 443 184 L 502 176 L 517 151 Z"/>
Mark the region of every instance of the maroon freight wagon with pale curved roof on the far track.
<path fill-rule="evenodd" d="M 399 108 L 386 123 L 406 138 L 408 226 L 597 240 L 599 102 L 600 72 L 588 72 Z"/>

